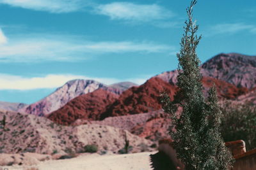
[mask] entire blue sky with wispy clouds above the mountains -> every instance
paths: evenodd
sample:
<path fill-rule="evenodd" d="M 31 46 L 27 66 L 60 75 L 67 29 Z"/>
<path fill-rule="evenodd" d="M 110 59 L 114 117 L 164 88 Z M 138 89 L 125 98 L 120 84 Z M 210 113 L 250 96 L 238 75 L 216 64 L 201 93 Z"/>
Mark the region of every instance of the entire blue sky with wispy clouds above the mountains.
<path fill-rule="evenodd" d="M 176 69 L 189 0 L 0 0 L 0 101 L 33 103 L 66 81 L 141 84 Z M 256 55 L 256 1 L 198 1 L 202 62 Z"/>

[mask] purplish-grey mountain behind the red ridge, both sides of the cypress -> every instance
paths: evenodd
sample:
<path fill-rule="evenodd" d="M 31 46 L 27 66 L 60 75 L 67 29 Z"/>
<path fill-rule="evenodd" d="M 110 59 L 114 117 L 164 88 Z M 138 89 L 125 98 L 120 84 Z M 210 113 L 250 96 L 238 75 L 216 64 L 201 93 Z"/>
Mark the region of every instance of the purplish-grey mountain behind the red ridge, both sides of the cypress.
<path fill-rule="evenodd" d="M 202 76 L 227 81 L 236 87 L 252 89 L 256 86 L 256 56 L 239 53 L 220 53 L 200 66 Z M 177 83 L 177 70 L 166 71 L 156 77 Z"/>

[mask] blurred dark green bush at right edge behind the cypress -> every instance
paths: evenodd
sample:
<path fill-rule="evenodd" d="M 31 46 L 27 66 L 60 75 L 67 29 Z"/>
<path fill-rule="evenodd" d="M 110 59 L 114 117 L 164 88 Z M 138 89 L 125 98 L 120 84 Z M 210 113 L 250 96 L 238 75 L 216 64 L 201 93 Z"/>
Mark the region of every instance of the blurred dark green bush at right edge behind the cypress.
<path fill-rule="evenodd" d="M 256 106 L 225 103 L 221 108 L 221 134 L 225 141 L 244 140 L 246 150 L 256 148 Z"/>

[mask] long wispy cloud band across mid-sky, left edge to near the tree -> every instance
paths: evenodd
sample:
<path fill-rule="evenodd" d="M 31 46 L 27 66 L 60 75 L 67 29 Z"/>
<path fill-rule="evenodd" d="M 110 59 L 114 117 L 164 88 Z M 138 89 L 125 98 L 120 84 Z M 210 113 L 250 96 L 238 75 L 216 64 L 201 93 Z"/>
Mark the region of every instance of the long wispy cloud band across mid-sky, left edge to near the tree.
<path fill-rule="evenodd" d="M 4 35 L 0 32 L 0 35 Z M 1 38 L 2 37 L 2 38 Z M 76 36 L 33 34 L 8 38 L 0 36 L 0 62 L 77 62 L 107 53 L 163 53 L 173 46 L 149 41 L 85 41 Z"/>

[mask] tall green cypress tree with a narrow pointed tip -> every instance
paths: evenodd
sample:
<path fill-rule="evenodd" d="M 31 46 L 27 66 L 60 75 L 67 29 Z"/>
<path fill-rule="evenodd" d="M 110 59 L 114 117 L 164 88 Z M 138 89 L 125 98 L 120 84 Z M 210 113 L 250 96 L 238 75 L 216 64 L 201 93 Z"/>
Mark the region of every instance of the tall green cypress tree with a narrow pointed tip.
<path fill-rule="evenodd" d="M 177 156 L 184 162 L 186 169 L 227 169 L 231 166 L 232 156 L 225 148 L 219 131 L 220 107 L 214 87 L 209 91 L 207 100 L 202 92 L 200 60 L 196 47 L 201 36 L 196 36 L 198 25 L 193 22 L 193 7 L 196 0 L 187 8 L 188 20 L 180 43 L 177 86 L 179 92 L 170 102 L 167 94 L 162 94 L 163 109 L 172 115 L 175 131 L 170 131 Z M 182 113 L 177 115 L 177 105 Z"/>

